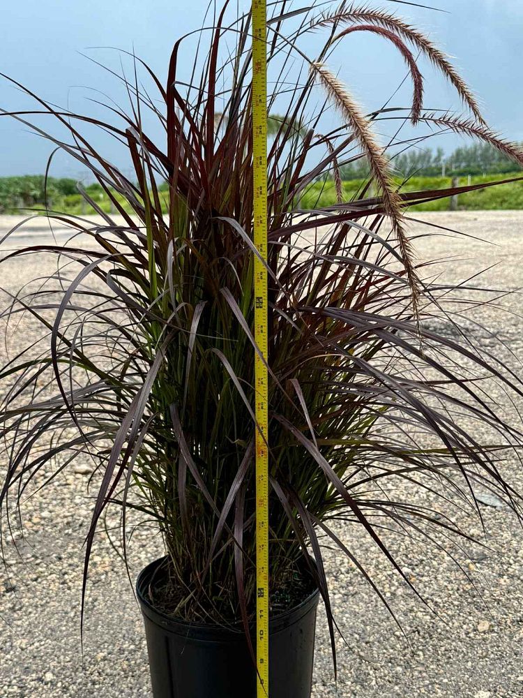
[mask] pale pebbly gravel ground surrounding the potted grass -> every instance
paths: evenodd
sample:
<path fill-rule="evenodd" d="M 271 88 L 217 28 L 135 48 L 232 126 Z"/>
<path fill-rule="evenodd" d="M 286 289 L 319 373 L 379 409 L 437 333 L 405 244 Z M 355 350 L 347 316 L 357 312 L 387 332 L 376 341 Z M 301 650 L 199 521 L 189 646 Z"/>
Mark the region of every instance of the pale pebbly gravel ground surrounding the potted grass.
<path fill-rule="evenodd" d="M 441 226 L 440 237 L 416 241 L 420 258 L 451 259 L 444 272 L 447 280 L 467 279 L 496 265 L 485 272 L 481 285 L 510 290 L 523 285 L 523 212 L 419 215 Z M 0 217 L 0 233 L 10 225 L 7 217 Z M 426 230 L 412 223 L 413 235 L 423 235 Z M 29 240 L 47 242 L 49 236 L 45 221 L 31 222 L 23 234 L 19 231 L 13 236 L 10 246 L 28 244 Z M 42 255 L 38 268 L 22 260 L 9 262 L 5 268 L 2 265 L 2 269 L 0 286 L 15 290 L 50 271 L 52 262 Z M 441 269 L 434 267 L 433 271 Z M 480 285 L 478 279 L 474 283 Z M 502 299 L 510 312 L 482 308 L 464 320 L 467 332 L 497 351 L 501 339 L 506 345 L 503 358 L 516 371 L 521 371 L 523 358 L 523 321 L 517 315 L 520 299 L 519 293 Z M 487 325 L 492 335 L 473 325 L 475 320 Z M 11 348 L 31 339 L 34 332 L 31 321 L 24 318 Z M 0 352 L 0 360 L 5 359 L 5 350 Z M 501 389 L 492 390 L 498 391 L 492 396 L 506 404 L 508 412 L 513 411 Z M 0 459 L 5 460 L 5 455 Z M 142 619 L 125 567 L 103 536 L 89 575 L 82 658 L 79 603 L 82 542 L 90 512 L 86 497 L 89 469 L 88 461 L 78 459 L 74 470 L 70 468 L 49 489 L 27 500 L 24 535 L 15 533 L 16 545 L 6 542 L 3 549 L 1 698 L 151 696 Z M 515 463 L 510 463 L 510 469 L 512 482 L 523 491 L 522 470 Z M 320 610 L 313 698 L 523 696 L 523 533 L 501 503 L 493 500 L 491 504 L 494 506 L 482 506 L 489 531 L 488 549 L 466 545 L 456 552 L 468 577 L 437 550 L 409 546 L 407 554 L 399 533 L 392 531 L 387 537 L 437 615 L 409 591 L 370 544 L 358 535 L 351 538 L 349 528 L 342 530 L 365 559 L 404 634 L 354 566 L 340 554 L 326 551 L 333 606 L 347 645 L 339 644 L 337 693 Z M 464 514 L 459 523 L 471 534 L 482 535 L 478 522 Z M 132 541 L 132 576 L 157 552 L 160 550 L 153 548 L 146 533 L 138 530 Z"/>

